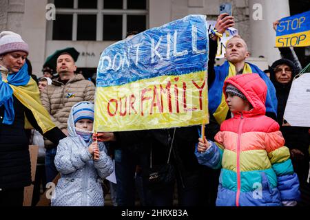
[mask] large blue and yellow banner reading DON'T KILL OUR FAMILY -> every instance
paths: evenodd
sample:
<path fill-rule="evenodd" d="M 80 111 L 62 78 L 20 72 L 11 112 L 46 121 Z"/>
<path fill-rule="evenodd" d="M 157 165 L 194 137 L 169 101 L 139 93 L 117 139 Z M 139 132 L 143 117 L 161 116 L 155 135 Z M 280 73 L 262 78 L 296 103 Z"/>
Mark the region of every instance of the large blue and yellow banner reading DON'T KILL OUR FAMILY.
<path fill-rule="evenodd" d="M 97 69 L 94 131 L 208 121 L 207 21 L 189 15 L 114 43 Z"/>

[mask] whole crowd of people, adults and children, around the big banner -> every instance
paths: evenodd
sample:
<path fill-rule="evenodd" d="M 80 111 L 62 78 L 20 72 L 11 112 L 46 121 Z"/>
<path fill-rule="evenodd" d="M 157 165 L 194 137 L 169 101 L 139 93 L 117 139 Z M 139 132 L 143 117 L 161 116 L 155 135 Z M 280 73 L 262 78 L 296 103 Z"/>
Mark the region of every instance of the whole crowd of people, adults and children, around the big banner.
<path fill-rule="evenodd" d="M 95 86 L 75 74 L 77 57 L 59 51 L 36 83 L 28 44 L 1 32 L 0 206 L 23 205 L 24 188 L 32 184 L 30 144 L 39 146 L 32 206 L 58 173 L 52 206 L 103 206 L 103 179 L 113 170 L 114 206 L 134 206 L 137 192 L 141 206 L 172 206 L 175 188 L 178 206 L 310 205 L 310 130 L 283 119 L 302 67 L 284 47 L 263 72 L 246 62 L 240 36 L 227 41 L 226 61 L 215 66 L 214 33 L 234 23 L 220 14 L 209 34 L 205 137 L 199 126 L 92 134 Z M 156 181 L 150 178 L 155 171 Z"/>

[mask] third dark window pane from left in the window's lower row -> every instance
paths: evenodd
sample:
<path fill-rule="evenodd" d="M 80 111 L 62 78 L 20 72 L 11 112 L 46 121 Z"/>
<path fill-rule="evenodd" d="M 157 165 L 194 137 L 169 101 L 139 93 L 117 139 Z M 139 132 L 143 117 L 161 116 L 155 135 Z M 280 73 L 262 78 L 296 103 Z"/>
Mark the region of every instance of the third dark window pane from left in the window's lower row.
<path fill-rule="evenodd" d="M 122 39 L 123 18 L 121 15 L 103 15 L 103 41 Z"/>

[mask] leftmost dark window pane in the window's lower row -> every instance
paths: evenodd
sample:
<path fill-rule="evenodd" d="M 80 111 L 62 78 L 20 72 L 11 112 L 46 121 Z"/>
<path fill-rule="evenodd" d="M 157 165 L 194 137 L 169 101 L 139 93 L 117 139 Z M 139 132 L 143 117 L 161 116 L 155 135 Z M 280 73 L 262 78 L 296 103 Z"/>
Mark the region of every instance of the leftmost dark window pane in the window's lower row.
<path fill-rule="evenodd" d="M 53 21 L 53 40 L 72 41 L 72 14 L 56 14 Z"/>

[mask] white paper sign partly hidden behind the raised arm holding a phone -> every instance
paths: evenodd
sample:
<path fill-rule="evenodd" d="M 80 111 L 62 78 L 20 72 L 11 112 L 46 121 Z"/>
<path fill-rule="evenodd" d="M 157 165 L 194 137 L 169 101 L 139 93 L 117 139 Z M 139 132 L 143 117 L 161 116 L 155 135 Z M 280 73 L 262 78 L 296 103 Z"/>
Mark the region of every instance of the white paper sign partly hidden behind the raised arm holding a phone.
<path fill-rule="evenodd" d="M 207 21 L 208 23 L 208 32 L 215 28 L 216 21 Z M 224 58 L 224 54 L 226 52 L 226 43 L 233 36 L 238 35 L 238 30 L 236 28 L 227 28 L 227 30 L 223 33 L 223 37 L 221 37 L 218 41 L 218 50 L 216 51 L 216 58 Z"/>

